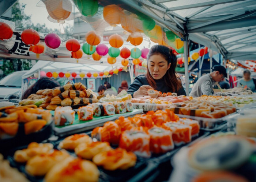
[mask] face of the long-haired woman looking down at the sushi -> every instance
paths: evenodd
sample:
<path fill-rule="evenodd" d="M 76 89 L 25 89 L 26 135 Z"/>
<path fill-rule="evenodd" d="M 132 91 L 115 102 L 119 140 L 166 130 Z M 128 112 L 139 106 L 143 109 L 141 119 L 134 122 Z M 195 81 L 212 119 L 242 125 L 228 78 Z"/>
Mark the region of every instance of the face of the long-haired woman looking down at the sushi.
<path fill-rule="evenodd" d="M 161 79 L 166 74 L 167 70 L 169 70 L 171 63 L 168 62 L 163 58 L 160 54 L 154 54 L 150 56 L 148 59 L 148 70 L 150 75 L 155 79 Z"/>

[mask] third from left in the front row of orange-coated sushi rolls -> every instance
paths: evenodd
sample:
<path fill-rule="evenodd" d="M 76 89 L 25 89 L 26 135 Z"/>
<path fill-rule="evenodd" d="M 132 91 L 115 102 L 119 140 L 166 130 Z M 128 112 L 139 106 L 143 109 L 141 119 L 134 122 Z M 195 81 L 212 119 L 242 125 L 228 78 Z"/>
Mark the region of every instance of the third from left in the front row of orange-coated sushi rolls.
<path fill-rule="evenodd" d="M 163 123 L 162 127 L 166 130 L 172 131 L 173 141 L 176 146 L 191 142 L 191 126 L 171 121 Z"/>

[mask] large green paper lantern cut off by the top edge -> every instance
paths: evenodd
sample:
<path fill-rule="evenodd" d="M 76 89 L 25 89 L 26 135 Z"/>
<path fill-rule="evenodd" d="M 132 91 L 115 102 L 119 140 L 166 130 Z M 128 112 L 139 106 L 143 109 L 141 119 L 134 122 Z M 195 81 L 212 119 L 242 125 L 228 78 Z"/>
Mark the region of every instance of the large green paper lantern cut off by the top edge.
<path fill-rule="evenodd" d="M 97 0 L 75 0 L 74 3 L 80 13 L 88 17 L 95 15 L 99 8 Z"/>

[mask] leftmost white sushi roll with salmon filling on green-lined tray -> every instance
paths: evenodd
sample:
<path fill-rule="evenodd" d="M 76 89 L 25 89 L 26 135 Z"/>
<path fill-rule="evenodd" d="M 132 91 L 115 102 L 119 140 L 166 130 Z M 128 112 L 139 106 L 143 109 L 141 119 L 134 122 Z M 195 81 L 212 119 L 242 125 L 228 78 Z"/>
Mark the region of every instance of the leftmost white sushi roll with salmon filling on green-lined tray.
<path fill-rule="evenodd" d="M 56 126 L 73 124 L 75 120 L 75 111 L 72 107 L 56 107 L 54 111 L 54 122 Z"/>

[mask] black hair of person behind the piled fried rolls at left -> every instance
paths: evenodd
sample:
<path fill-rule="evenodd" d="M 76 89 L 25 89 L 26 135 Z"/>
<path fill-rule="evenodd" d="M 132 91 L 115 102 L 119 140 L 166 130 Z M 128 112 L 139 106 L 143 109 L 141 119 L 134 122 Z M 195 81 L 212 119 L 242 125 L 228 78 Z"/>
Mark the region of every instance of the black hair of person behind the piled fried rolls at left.
<path fill-rule="evenodd" d="M 53 79 L 43 76 L 24 92 L 22 99 L 26 99 L 31 94 L 37 93 L 38 90 L 44 90 L 46 88 L 55 88 L 59 86 L 60 84 L 55 82 Z"/>

